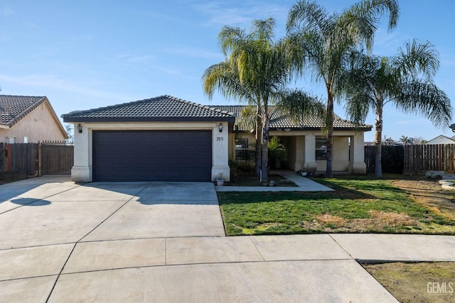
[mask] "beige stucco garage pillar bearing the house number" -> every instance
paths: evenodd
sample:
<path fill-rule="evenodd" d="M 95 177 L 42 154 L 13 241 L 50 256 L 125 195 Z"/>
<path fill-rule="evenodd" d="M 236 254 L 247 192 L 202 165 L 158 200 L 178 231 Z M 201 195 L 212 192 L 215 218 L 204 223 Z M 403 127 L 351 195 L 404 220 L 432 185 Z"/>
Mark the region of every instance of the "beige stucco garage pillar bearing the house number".
<path fill-rule="evenodd" d="M 215 123 L 212 130 L 212 181 L 217 177 L 223 177 L 223 180 L 229 182 L 229 127 L 228 122 L 223 122 L 221 125 L 223 131 L 220 132 L 220 123 Z"/>

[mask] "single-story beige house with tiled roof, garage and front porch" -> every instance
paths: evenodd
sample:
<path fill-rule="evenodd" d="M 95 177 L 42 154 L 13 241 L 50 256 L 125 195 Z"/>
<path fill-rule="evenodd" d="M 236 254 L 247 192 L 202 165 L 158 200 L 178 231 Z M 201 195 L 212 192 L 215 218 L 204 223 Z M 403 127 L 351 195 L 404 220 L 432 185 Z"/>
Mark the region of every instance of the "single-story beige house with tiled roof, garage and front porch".
<path fill-rule="evenodd" d="M 254 143 L 238 119 L 242 106 L 204 106 L 171 96 L 73 111 L 62 116 L 75 126 L 76 182 L 230 180 L 229 160 L 244 160 Z M 236 121 L 237 116 L 237 121 Z M 363 132 L 336 117 L 333 170 L 365 173 Z M 292 170 L 325 170 L 322 121 L 294 123 L 276 111 L 271 136 L 289 152 Z"/>

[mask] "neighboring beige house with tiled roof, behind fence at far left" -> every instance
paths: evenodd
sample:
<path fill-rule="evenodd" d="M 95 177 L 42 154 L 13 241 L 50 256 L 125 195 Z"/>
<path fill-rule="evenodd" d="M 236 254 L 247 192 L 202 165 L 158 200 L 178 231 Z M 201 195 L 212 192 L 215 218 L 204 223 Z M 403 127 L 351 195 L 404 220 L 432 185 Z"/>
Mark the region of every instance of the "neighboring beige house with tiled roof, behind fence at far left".
<path fill-rule="evenodd" d="M 0 143 L 65 139 L 65 128 L 47 97 L 0 95 Z"/>

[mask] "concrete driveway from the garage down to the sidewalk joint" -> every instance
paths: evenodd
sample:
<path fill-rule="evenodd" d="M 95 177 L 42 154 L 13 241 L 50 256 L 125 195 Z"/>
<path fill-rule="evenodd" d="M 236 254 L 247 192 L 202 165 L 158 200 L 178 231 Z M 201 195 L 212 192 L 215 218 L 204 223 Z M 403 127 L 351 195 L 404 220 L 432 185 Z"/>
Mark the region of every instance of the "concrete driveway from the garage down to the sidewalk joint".
<path fill-rule="evenodd" d="M 208 182 L 75 184 L 39 177 L 1 185 L 0 249 L 85 241 L 224 236 Z"/>

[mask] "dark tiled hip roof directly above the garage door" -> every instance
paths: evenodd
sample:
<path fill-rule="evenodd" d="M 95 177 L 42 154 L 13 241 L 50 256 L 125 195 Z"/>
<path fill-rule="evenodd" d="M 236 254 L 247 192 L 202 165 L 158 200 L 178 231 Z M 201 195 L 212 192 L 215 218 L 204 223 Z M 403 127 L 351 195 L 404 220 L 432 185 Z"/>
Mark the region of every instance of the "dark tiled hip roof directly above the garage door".
<path fill-rule="evenodd" d="M 168 95 L 99 109 L 72 111 L 62 115 L 62 118 L 65 122 L 235 121 L 235 116 L 228 111 Z"/>

